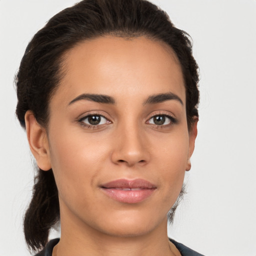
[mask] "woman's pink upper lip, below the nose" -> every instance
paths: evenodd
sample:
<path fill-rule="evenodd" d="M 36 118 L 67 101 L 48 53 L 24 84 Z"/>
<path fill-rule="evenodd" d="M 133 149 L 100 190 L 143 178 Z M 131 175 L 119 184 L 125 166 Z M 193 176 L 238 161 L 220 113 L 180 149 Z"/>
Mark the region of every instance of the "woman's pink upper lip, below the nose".
<path fill-rule="evenodd" d="M 127 187 L 127 188 L 156 188 L 156 186 L 149 181 L 141 178 L 137 179 L 125 179 L 120 178 L 116 180 L 112 180 L 110 182 L 104 183 L 101 185 L 104 188 L 113 188 L 113 187 Z"/>

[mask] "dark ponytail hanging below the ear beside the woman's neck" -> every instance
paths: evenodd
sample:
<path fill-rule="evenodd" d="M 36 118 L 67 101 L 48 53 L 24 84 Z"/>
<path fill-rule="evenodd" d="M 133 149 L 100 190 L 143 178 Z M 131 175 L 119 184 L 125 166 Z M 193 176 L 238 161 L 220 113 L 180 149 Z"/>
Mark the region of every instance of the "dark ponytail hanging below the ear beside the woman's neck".
<path fill-rule="evenodd" d="M 49 229 L 59 221 L 58 192 L 52 170 L 39 169 L 34 180 L 31 202 L 24 215 L 24 234 L 32 250 L 48 241 Z"/>

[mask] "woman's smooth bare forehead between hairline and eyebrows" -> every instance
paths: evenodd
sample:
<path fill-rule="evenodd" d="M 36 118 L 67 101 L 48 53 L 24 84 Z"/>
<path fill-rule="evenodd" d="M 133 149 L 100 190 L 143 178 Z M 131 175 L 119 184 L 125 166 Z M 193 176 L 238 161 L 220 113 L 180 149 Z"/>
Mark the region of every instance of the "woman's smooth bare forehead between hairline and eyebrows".
<path fill-rule="evenodd" d="M 164 42 L 102 36 L 76 44 L 63 59 L 59 89 L 70 97 L 81 93 L 146 97 L 171 91 L 185 101 L 179 61 Z"/>

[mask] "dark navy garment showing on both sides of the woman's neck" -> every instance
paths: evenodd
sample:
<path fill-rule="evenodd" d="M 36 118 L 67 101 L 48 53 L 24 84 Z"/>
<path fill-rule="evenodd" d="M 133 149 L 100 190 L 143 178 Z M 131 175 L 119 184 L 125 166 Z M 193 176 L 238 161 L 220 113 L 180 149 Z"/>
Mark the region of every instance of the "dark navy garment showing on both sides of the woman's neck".
<path fill-rule="evenodd" d="M 52 249 L 58 243 L 58 241 L 59 241 L 59 238 L 50 240 L 46 244 L 44 249 L 41 252 L 37 253 L 35 256 L 51 256 Z M 170 241 L 176 246 L 176 248 L 179 250 L 179 252 L 182 256 L 203 256 L 202 254 L 200 254 L 192 249 L 189 249 L 182 243 L 176 242 L 172 239 L 170 239 Z"/>

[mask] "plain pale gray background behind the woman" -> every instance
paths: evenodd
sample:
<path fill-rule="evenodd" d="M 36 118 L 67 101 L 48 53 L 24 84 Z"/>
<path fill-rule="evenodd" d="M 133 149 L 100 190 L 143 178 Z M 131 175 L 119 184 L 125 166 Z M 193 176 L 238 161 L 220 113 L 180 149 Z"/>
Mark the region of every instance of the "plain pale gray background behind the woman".
<path fill-rule="evenodd" d="M 32 158 L 13 77 L 32 35 L 76 0 L 0 0 L 0 256 L 29 255 Z M 187 194 L 169 236 L 206 255 L 256 255 L 256 1 L 153 0 L 193 38 L 201 73 Z M 51 237 L 57 235 L 52 233 Z"/>

